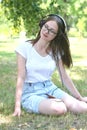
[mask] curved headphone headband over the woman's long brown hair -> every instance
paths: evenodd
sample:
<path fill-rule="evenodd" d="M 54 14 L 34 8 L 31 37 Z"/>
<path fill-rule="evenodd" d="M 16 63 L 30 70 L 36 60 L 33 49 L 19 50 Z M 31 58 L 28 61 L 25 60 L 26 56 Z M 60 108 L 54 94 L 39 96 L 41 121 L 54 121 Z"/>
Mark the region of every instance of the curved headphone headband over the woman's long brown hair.
<path fill-rule="evenodd" d="M 49 14 L 49 15 L 43 17 L 43 19 L 42 19 L 42 20 L 40 21 L 40 23 L 39 23 L 39 26 L 40 26 L 40 27 L 42 27 L 42 26 L 45 24 L 46 19 L 47 19 L 48 17 L 57 17 L 58 19 L 60 19 L 60 21 L 62 22 L 63 28 L 64 28 L 64 29 L 63 29 L 63 32 L 65 32 L 65 31 L 67 30 L 67 26 L 66 26 L 65 20 L 63 19 L 63 17 L 61 17 L 60 15 L 57 15 L 57 14 Z"/>

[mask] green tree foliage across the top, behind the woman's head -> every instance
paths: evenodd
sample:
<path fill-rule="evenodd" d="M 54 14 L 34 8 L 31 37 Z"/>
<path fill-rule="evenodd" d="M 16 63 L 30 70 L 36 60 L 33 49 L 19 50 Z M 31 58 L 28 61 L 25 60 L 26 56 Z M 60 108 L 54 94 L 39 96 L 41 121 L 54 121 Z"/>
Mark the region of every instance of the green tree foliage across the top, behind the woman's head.
<path fill-rule="evenodd" d="M 20 32 L 24 26 L 28 36 L 37 33 L 40 19 L 50 13 L 62 15 L 68 30 L 73 27 L 80 35 L 87 36 L 86 0 L 2 0 L 1 3 L 14 28 Z"/>

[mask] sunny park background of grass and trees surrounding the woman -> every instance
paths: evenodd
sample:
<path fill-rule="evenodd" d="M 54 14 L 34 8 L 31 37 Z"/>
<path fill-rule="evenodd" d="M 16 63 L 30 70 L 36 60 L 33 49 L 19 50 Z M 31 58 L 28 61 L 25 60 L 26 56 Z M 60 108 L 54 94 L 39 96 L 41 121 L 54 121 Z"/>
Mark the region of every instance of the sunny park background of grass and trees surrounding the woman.
<path fill-rule="evenodd" d="M 73 67 L 67 70 L 77 89 L 87 96 L 87 1 L 0 0 L 0 130 L 87 130 L 87 114 L 61 117 L 29 114 L 13 117 L 16 88 L 16 46 L 34 38 L 38 23 L 59 14 L 67 23 Z M 66 90 L 55 71 L 52 80 Z M 67 91 L 67 90 L 66 90 Z"/>

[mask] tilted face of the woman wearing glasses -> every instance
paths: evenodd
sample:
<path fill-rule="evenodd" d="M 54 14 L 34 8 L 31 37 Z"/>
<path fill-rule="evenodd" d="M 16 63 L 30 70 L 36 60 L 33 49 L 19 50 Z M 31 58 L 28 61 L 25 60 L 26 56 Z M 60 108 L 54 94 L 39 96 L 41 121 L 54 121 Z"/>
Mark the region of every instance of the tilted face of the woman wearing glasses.
<path fill-rule="evenodd" d="M 58 25 L 55 21 L 48 21 L 46 22 L 41 29 L 40 32 L 40 38 L 50 42 L 51 40 L 53 40 L 58 32 Z"/>

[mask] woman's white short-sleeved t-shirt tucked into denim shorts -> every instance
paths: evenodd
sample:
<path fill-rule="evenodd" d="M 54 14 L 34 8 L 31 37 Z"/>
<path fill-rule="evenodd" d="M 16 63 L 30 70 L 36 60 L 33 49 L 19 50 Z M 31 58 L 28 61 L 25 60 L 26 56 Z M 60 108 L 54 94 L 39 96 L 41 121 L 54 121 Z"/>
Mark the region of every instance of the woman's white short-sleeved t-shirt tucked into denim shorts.
<path fill-rule="evenodd" d="M 30 42 L 20 44 L 15 51 L 26 59 L 25 82 L 43 82 L 51 78 L 56 68 L 51 55 L 41 56 Z"/>

